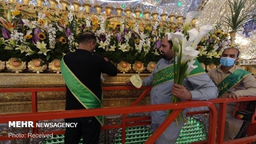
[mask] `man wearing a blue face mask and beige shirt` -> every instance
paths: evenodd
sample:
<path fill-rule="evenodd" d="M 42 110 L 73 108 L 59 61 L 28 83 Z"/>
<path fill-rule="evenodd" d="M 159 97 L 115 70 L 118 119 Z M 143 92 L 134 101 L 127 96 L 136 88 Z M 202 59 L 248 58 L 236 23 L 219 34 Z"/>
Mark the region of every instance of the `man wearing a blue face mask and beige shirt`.
<path fill-rule="evenodd" d="M 218 87 L 218 97 L 239 99 L 239 96 L 256 96 L 256 81 L 252 73 L 236 66 L 239 50 L 234 47 L 225 49 L 220 57 L 221 66 L 208 72 Z M 243 121 L 233 118 L 236 103 L 228 103 L 225 121 L 224 140 L 231 140 L 239 132 Z M 217 110 L 219 109 L 216 104 Z"/>

